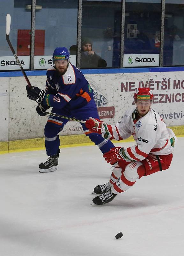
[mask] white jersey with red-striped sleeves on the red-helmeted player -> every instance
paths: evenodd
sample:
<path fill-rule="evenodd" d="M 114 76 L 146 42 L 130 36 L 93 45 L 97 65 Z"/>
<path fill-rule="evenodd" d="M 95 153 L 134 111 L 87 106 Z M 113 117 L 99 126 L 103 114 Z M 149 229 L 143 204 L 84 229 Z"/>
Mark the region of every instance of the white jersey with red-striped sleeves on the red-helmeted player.
<path fill-rule="evenodd" d="M 115 125 L 106 125 L 106 134 L 112 140 L 127 139 L 131 135 L 136 145 L 125 149 L 123 155 L 131 161 L 141 161 L 149 153 L 168 155 L 173 152 L 177 138 L 158 113 L 150 108 L 148 113 L 136 120 L 136 108 L 128 110 Z M 108 132 L 107 132 L 108 129 Z"/>

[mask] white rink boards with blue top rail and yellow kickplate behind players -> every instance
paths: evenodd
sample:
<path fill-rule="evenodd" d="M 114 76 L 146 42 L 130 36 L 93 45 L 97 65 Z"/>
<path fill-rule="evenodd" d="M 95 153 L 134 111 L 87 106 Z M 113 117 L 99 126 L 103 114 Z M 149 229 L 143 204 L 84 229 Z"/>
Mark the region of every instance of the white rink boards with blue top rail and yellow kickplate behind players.
<path fill-rule="evenodd" d="M 150 87 L 152 108 L 168 127 L 184 136 L 184 68 L 133 68 L 82 71 L 94 91 L 100 119 L 116 124 L 133 107 L 138 87 Z M 34 86 L 45 88 L 46 71 L 28 71 Z M 38 116 L 36 103 L 27 99 L 26 80 L 21 72 L 0 73 L 0 152 L 44 147 L 46 117 Z M 70 121 L 59 133 L 61 146 L 88 144 L 80 123 Z M 72 135 L 72 136 L 71 136 Z"/>

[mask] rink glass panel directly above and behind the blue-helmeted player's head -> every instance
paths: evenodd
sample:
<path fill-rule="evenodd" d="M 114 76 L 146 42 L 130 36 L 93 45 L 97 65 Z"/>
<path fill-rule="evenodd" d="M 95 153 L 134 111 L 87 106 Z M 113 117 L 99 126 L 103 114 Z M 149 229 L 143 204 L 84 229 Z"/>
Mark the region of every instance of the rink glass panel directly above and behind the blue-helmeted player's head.
<path fill-rule="evenodd" d="M 77 44 L 77 0 L 37 0 L 36 5 L 41 5 L 42 9 L 36 11 L 35 35 L 40 33 L 40 44 L 35 41 L 35 55 L 40 55 L 40 65 L 44 65 L 44 60 L 52 54 L 56 47 L 65 46 L 68 50 L 70 46 Z M 43 40 L 44 37 L 44 40 Z M 36 36 L 35 36 L 36 39 Z M 46 56 L 46 58 L 44 58 Z M 48 60 L 51 61 L 51 60 Z M 76 65 L 76 63 L 72 63 Z M 40 67 L 41 68 L 41 67 Z"/>

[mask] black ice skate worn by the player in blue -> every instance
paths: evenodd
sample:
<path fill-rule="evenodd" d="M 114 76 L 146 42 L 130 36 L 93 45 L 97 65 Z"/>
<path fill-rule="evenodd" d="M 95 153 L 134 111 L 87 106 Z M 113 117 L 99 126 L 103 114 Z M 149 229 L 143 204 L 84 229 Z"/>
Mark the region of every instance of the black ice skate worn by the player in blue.
<path fill-rule="evenodd" d="M 40 171 L 41 173 L 43 172 L 54 172 L 57 170 L 57 165 L 58 165 L 58 158 L 59 158 L 59 153 L 60 153 L 60 149 L 58 149 L 57 154 L 54 156 L 50 156 L 46 162 L 41 163 L 39 165 Z"/>

